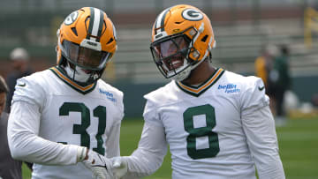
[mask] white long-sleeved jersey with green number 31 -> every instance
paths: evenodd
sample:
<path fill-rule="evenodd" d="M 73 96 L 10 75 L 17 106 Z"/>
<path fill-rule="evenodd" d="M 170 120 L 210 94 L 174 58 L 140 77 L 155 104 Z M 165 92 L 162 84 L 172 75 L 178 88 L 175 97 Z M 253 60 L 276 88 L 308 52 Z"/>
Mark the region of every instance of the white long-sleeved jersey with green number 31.
<path fill-rule="evenodd" d="M 26 102 L 36 107 L 39 116 L 35 111 L 35 118 L 29 117 L 23 106 L 16 106 Z M 42 139 L 19 148 L 19 153 L 28 153 L 21 160 L 35 162 L 33 178 L 92 178 L 89 169 L 76 164 L 77 151 L 72 145 L 86 146 L 107 157 L 120 154 L 123 93 L 101 79 L 82 87 L 58 67 L 37 72 L 18 80 L 12 107 L 8 130 L 11 148 L 25 140 L 17 137 L 20 133 L 34 133 Z"/>

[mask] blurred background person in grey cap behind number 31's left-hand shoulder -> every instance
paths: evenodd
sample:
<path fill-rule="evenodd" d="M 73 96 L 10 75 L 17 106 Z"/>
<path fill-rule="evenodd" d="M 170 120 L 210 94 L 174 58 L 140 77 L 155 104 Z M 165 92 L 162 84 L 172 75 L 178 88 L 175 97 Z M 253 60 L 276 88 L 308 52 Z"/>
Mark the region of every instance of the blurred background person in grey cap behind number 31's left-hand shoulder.
<path fill-rule="evenodd" d="M 5 108 L 5 111 L 7 113 L 10 113 L 11 110 L 11 100 L 14 93 L 14 86 L 16 86 L 17 83 L 17 79 L 32 74 L 32 70 L 28 65 L 29 55 L 25 48 L 14 48 L 11 51 L 10 60 L 13 71 L 11 71 L 6 78 L 6 82 L 9 86 L 9 93 L 7 95 L 7 102 Z"/>

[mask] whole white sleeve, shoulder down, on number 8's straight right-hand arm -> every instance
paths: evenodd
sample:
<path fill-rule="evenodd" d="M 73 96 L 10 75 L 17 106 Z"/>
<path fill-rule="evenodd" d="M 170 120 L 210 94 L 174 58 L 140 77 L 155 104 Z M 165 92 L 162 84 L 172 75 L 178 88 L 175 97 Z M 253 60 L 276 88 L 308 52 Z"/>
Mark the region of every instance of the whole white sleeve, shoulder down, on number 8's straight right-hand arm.
<path fill-rule="evenodd" d="M 261 78 L 251 78 L 242 96 L 241 118 L 260 179 L 284 178 L 276 129 Z"/>

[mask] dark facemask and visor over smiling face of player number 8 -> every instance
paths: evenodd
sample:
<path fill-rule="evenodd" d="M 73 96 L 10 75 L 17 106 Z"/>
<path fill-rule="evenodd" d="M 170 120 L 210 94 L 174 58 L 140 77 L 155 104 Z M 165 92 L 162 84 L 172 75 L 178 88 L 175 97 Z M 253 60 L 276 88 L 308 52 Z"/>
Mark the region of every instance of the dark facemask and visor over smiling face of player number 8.
<path fill-rule="evenodd" d="M 189 31 L 193 32 L 193 37 L 196 36 L 197 31 L 191 27 L 184 32 L 151 43 L 150 50 L 155 64 L 165 78 L 182 81 L 189 76 L 194 64 L 198 63 L 200 55 L 193 48 L 193 41 L 185 34 Z M 192 59 L 189 54 L 193 54 L 196 58 Z"/>

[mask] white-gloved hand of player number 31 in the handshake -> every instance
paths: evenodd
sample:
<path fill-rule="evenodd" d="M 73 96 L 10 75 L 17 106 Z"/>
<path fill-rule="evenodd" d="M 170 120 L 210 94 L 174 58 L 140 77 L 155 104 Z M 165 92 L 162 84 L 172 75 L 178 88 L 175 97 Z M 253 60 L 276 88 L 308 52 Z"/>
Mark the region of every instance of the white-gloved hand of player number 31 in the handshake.
<path fill-rule="evenodd" d="M 87 150 L 87 155 L 82 160 L 85 167 L 89 168 L 93 172 L 93 177 L 97 179 L 111 179 L 113 174 L 111 171 L 111 160 L 95 153 L 94 151 Z"/>

